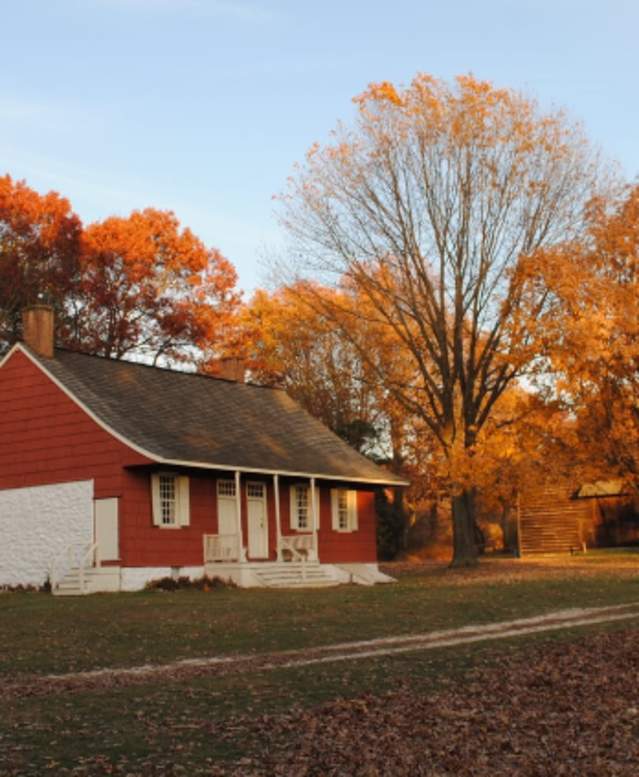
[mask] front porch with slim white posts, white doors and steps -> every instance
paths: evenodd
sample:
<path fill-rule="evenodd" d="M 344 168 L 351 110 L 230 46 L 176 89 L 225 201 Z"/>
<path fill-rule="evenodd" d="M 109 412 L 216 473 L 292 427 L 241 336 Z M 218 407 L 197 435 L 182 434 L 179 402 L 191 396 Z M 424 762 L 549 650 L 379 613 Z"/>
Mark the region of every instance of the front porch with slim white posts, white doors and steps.
<path fill-rule="evenodd" d="M 237 470 L 215 491 L 218 530 L 202 537 L 208 576 L 270 588 L 390 582 L 377 568 L 370 486 Z"/>

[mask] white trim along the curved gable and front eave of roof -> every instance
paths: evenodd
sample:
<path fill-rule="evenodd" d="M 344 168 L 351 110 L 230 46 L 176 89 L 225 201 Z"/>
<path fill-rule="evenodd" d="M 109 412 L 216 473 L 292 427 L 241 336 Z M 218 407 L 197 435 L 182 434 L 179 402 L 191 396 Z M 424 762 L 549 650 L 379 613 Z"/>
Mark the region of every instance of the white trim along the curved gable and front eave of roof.
<path fill-rule="evenodd" d="M 158 455 L 157 453 L 152 453 L 151 451 L 146 450 L 146 448 L 141 447 L 137 443 L 130 440 L 128 437 L 125 437 L 124 435 L 120 434 L 118 431 L 113 429 L 109 424 L 106 423 L 106 421 L 103 421 L 99 416 L 97 416 L 91 408 L 89 408 L 82 400 L 78 399 L 78 397 L 75 396 L 75 394 L 68 389 L 62 381 L 60 381 L 58 378 L 56 378 L 55 375 L 53 375 L 46 366 L 42 363 L 42 361 L 35 357 L 29 348 L 27 348 L 23 343 L 15 343 L 9 350 L 9 352 L 0 360 L 0 369 L 4 366 L 4 364 L 9 360 L 9 358 L 16 353 L 17 351 L 20 351 L 20 353 L 23 353 L 29 361 L 34 364 L 38 369 L 40 369 L 46 376 L 49 378 L 49 380 L 54 383 L 60 391 L 63 392 L 72 402 L 74 402 L 86 415 L 91 418 L 92 421 L 94 421 L 101 429 L 103 429 L 105 432 L 110 434 L 112 437 L 114 437 L 116 440 L 121 442 L 123 445 L 126 445 L 128 448 L 131 448 L 131 450 L 134 450 L 136 453 L 139 453 L 141 456 L 145 456 L 147 459 L 150 459 L 151 461 L 154 461 L 158 464 L 166 464 L 168 466 L 174 466 L 174 467 L 193 467 L 195 469 L 211 469 L 211 470 L 223 470 L 227 472 L 248 472 L 253 474 L 264 474 L 264 475 L 284 475 L 286 477 L 302 477 L 302 478 L 315 478 L 316 480 L 338 480 L 342 482 L 350 482 L 350 483 L 369 483 L 370 485 L 378 485 L 378 486 L 408 486 L 410 485 L 409 481 L 398 479 L 398 480 L 391 480 L 390 478 L 358 478 L 358 477 L 349 477 L 345 478 L 340 475 L 324 475 L 324 474 L 317 474 L 312 472 L 295 472 L 290 470 L 273 470 L 273 469 L 260 469 L 257 467 L 239 467 L 239 466 L 232 466 L 229 464 L 209 464 L 208 462 L 198 462 L 198 461 L 182 461 L 180 459 L 167 459 L 163 456 Z"/>

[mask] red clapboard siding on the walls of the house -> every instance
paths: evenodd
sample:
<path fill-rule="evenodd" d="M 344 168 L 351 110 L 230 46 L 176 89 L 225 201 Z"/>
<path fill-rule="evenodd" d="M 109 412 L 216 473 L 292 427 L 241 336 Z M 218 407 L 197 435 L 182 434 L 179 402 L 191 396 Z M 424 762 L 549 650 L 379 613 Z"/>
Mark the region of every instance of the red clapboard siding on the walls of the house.
<path fill-rule="evenodd" d="M 145 466 L 147 465 L 147 466 Z M 16 351 L 0 369 L 0 489 L 94 480 L 95 497 L 120 498 L 120 557 L 125 566 L 199 566 L 203 534 L 217 532 L 216 478 L 229 473 L 182 469 L 190 478 L 188 527 L 153 525 L 150 476 L 153 461 L 95 423 L 27 356 Z M 242 525 L 248 545 L 246 482 L 266 485 L 269 559 L 277 557 L 272 478 L 242 477 Z M 291 534 L 290 484 L 280 484 L 281 525 Z M 374 562 L 374 494 L 358 492 L 359 529 L 335 532 L 330 488 L 320 487 L 319 557 L 324 563 Z"/>

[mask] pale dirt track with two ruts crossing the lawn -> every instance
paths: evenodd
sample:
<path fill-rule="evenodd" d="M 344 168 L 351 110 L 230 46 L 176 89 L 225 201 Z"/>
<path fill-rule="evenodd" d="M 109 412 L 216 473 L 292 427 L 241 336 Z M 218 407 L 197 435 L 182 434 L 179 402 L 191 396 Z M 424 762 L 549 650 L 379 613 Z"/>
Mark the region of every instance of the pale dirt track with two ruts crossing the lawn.
<path fill-rule="evenodd" d="M 59 691 L 87 690 L 143 683 L 156 676 L 184 678 L 201 674 L 230 674 L 269 671 L 313 664 L 357 661 L 399 653 L 455 647 L 474 642 L 557 631 L 577 626 L 639 618 L 639 602 L 611 607 L 558 610 L 531 618 L 464 626 L 458 629 L 405 634 L 397 637 L 341 642 L 302 650 L 259 655 L 212 656 L 185 659 L 170 664 L 146 664 L 125 668 L 95 669 L 55 675 L 31 675 L 19 682 L 0 682 L 0 698 L 18 695 L 46 695 Z"/>

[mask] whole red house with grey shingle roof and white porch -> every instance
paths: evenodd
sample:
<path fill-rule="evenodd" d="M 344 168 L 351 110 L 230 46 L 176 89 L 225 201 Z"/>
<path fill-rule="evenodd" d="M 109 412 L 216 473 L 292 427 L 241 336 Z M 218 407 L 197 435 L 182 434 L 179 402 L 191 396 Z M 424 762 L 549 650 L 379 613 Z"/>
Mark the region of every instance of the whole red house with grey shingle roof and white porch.
<path fill-rule="evenodd" d="M 0 362 L 0 586 L 382 581 L 374 492 L 402 481 L 283 391 L 54 349 Z"/>

